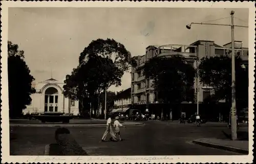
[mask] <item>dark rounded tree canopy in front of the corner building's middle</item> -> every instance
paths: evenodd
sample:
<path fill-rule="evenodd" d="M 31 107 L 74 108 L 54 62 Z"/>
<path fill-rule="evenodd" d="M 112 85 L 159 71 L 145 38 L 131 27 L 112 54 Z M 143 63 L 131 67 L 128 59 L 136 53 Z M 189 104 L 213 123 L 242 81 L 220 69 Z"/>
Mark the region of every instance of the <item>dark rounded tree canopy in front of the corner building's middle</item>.
<path fill-rule="evenodd" d="M 194 85 L 195 69 L 181 56 L 154 57 L 145 63 L 144 72 L 164 103 L 185 101 L 187 89 Z"/>

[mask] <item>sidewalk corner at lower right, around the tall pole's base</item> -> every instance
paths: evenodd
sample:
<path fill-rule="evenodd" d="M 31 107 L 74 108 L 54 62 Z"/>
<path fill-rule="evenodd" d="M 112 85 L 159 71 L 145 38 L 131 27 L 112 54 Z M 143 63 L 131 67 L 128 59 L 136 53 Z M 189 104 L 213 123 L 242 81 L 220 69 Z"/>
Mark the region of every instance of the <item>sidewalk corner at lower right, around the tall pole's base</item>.
<path fill-rule="evenodd" d="M 241 154 L 249 153 L 248 140 L 230 140 L 230 139 L 218 139 L 218 138 L 201 138 L 193 140 L 193 143 L 206 147 L 212 147 L 217 149 L 223 149 L 227 151 L 237 152 Z"/>

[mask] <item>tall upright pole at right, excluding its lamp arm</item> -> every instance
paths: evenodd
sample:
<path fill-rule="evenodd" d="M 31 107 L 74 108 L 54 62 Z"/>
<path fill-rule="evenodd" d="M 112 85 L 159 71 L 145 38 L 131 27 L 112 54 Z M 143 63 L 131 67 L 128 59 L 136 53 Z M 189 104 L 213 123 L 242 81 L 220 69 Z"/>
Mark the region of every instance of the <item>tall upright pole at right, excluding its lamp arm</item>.
<path fill-rule="evenodd" d="M 235 54 L 234 54 L 234 11 L 230 12 L 231 15 L 231 46 L 232 46 L 232 106 L 231 106 L 231 139 L 237 139 L 237 111 L 236 111 L 236 67 L 235 67 Z"/>

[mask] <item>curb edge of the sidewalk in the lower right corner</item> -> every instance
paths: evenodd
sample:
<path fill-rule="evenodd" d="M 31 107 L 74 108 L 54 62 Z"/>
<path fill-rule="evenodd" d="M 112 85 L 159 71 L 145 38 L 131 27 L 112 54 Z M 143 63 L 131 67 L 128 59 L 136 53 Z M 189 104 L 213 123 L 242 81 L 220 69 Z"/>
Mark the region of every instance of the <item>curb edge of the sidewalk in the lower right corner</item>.
<path fill-rule="evenodd" d="M 193 140 L 193 143 L 201 145 L 201 146 L 217 148 L 217 149 L 227 150 L 227 151 L 231 151 L 231 152 L 246 154 L 246 155 L 249 154 L 249 150 L 234 148 L 234 147 L 230 147 L 230 146 L 222 146 L 222 145 L 217 145 L 217 144 L 212 144 L 212 143 L 205 143 L 205 142 L 201 142 L 198 140 Z"/>

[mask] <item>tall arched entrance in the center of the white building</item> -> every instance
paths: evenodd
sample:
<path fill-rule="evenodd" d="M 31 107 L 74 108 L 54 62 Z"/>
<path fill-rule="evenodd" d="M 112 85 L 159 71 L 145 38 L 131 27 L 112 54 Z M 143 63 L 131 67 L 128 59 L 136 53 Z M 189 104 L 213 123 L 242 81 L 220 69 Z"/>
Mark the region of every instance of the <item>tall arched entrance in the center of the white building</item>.
<path fill-rule="evenodd" d="M 54 87 L 49 87 L 45 91 L 45 112 L 58 111 L 58 90 Z"/>

